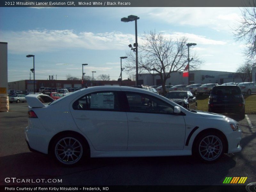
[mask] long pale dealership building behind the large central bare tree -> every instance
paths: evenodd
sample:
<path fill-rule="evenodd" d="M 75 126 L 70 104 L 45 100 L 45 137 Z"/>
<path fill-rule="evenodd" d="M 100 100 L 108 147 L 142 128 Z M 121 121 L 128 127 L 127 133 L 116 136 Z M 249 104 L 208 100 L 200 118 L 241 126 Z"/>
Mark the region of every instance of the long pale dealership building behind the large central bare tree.
<path fill-rule="evenodd" d="M 248 82 L 245 79 L 245 82 Z M 224 72 L 224 71 L 208 71 L 208 70 L 194 70 L 189 72 L 189 84 L 207 84 L 207 83 L 228 83 L 228 82 L 243 82 L 239 73 Z M 139 74 L 138 84 L 144 85 L 162 85 L 159 75 L 153 74 Z M 188 77 L 183 77 L 183 72 L 173 72 L 171 77 L 166 80 L 166 85 L 180 85 L 188 84 Z"/>

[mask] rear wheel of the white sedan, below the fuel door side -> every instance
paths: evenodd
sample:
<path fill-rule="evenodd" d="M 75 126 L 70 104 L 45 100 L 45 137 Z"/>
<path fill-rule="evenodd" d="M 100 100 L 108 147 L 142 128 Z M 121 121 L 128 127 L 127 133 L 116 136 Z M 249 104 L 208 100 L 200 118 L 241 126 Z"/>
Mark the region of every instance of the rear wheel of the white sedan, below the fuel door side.
<path fill-rule="evenodd" d="M 73 166 L 88 156 L 88 145 L 75 133 L 66 133 L 55 138 L 51 146 L 52 157 L 61 165 Z"/>

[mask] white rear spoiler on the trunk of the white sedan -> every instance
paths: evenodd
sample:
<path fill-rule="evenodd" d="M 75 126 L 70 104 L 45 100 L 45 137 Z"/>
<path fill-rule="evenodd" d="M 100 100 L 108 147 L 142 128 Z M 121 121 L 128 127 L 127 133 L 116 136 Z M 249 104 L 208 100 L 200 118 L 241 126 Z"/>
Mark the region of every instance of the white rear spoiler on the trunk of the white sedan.
<path fill-rule="evenodd" d="M 54 101 L 50 96 L 44 94 L 29 94 L 25 98 L 28 102 L 28 106 L 32 108 L 45 107 L 45 105 Z"/>

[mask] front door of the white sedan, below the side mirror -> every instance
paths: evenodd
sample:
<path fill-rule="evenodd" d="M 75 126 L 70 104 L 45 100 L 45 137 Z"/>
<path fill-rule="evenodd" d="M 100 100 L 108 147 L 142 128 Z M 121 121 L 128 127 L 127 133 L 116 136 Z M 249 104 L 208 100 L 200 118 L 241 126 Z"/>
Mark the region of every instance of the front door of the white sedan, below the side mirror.
<path fill-rule="evenodd" d="M 152 95 L 125 92 L 129 104 L 127 150 L 183 149 L 185 121 L 173 106 Z"/>

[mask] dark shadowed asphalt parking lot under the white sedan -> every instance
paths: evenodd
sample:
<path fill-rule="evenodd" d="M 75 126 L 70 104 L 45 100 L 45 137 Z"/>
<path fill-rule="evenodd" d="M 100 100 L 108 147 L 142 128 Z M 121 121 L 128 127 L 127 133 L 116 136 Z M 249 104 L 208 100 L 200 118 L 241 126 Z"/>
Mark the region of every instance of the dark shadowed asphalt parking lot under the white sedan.
<path fill-rule="evenodd" d="M 24 138 L 27 111 L 27 103 L 11 103 L 9 112 L 0 113 L 1 185 L 31 185 L 6 183 L 5 178 L 11 177 L 62 180 L 43 183 L 46 185 L 223 185 L 226 177 L 248 177 L 237 185 L 256 182 L 256 115 L 239 121 L 242 151 L 225 154 L 214 164 L 197 162 L 191 156 L 92 158 L 66 168 L 44 154 L 29 151 Z"/>

